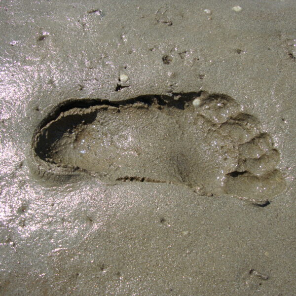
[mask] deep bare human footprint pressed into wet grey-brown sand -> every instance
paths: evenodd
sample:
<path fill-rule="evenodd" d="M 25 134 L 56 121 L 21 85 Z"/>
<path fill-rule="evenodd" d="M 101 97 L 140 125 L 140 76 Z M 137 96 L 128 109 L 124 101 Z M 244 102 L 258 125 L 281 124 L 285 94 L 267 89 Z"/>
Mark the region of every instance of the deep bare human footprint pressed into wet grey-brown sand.
<path fill-rule="evenodd" d="M 271 137 L 221 94 L 71 101 L 41 123 L 32 150 L 39 174 L 61 181 L 92 175 L 111 185 L 169 183 L 251 199 L 285 188 Z"/>

